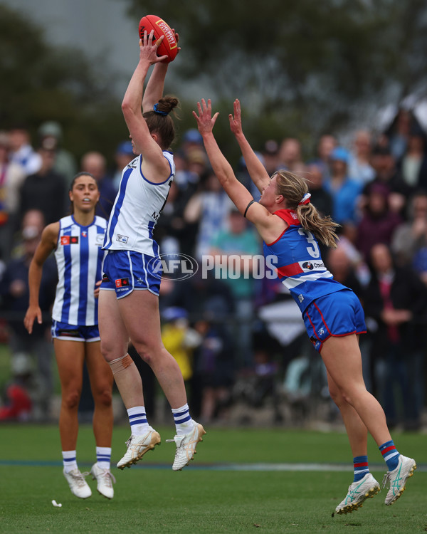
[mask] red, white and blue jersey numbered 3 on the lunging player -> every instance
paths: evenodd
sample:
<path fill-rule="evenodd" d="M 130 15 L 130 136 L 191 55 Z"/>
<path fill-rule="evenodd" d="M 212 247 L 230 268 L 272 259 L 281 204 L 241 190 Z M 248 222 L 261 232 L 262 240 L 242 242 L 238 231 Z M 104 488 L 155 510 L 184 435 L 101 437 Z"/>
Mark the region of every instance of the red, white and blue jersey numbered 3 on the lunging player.
<path fill-rule="evenodd" d="M 282 283 L 300 307 L 301 313 L 316 298 L 345 289 L 334 280 L 320 256 L 317 239 L 302 228 L 292 209 L 280 209 L 275 215 L 289 224 L 273 243 L 263 243 L 264 256 L 275 256 L 273 263 Z"/>

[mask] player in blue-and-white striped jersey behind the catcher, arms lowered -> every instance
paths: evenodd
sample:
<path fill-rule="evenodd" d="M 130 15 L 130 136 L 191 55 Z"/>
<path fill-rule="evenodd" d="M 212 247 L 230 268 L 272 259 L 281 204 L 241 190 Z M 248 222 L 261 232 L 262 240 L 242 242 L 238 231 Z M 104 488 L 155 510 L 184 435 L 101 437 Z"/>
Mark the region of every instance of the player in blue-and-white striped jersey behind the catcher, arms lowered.
<path fill-rule="evenodd" d="M 76 462 L 78 404 L 86 363 L 95 402 L 93 433 L 97 462 L 90 473 L 97 480 L 97 491 L 112 498 L 110 472 L 112 437 L 112 372 L 100 351 L 97 320 L 97 296 L 101 280 L 107 221 L 95 216 L 100 192 L 95 178 L 86 172 L 77 174 L 70 186 L 71 214 L 43 230 L 29 268 L 30 303 L 24 325 L 31 334 L 35 320 L 41 323 L 38 306 L 43 263 L 55 251 L 58 286 L 53 304 L 52 337 L 61 385 L 59 417 L 63 449 L 63 474 L 71 492 L 88 498 L 92 492 Z M 88 474 L 88 473 L 86 473 Z"/>

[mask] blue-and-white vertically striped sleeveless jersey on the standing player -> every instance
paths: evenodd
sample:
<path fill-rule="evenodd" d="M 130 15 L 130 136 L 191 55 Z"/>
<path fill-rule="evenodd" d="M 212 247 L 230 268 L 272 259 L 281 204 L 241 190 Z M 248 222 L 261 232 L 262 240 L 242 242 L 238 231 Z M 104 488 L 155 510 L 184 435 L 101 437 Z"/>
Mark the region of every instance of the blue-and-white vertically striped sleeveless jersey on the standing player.
<path fill-rule="evenodd" d="M 93 290 L 102 278 L 107 221 L 95 216 L 92 224 L 80 226 L 69 215 L 60 219 L 59 224 L 55 251 L 59 280 L 52 318 L 69 325 L 97 325 L 97 298 Z"/>

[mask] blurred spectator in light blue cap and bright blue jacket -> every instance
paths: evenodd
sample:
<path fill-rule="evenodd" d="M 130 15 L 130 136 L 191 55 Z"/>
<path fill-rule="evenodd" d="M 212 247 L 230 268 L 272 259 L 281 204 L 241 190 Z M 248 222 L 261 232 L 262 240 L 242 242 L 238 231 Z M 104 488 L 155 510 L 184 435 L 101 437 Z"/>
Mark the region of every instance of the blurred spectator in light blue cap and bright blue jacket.
<path fill-rule="evenodd" d="M 339 224 L 357 220 L 357 198 L 362 190 L 360 184 L 348 174 L 349 151 L 336 147 L 330 155 L 330 179 L 325 189 L 332 196 L 332 219 Z"/>

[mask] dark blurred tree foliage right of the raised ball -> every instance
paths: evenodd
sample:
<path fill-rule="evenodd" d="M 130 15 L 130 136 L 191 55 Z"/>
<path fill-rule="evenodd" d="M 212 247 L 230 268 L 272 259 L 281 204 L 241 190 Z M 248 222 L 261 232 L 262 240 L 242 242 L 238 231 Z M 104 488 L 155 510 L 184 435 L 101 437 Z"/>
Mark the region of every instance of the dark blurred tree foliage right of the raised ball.
<path fill-rule="evenodd" d="M 127 1 L 133 16 L 157 14 L 179 31 L 181 87 L 200 80 L 211 88 L 200 96 L 226 112 L 240 98 L 258 142 L 295 135 L 309 146 L 385 103 L 427 95 L 424 0 Z"/>

